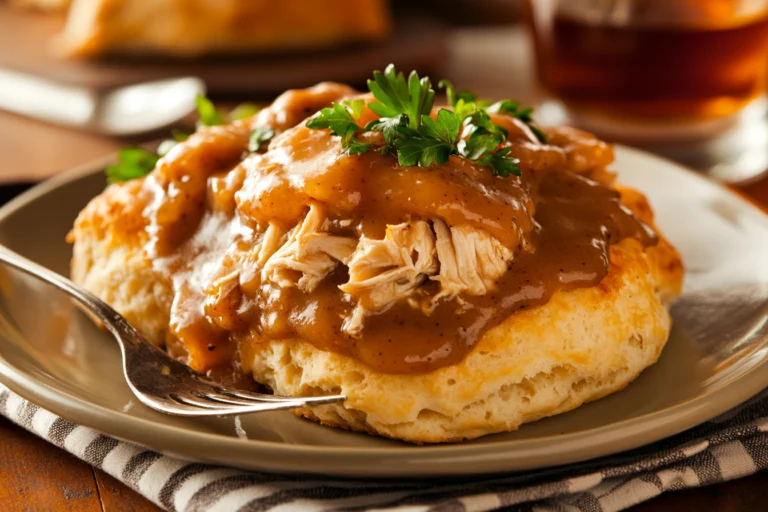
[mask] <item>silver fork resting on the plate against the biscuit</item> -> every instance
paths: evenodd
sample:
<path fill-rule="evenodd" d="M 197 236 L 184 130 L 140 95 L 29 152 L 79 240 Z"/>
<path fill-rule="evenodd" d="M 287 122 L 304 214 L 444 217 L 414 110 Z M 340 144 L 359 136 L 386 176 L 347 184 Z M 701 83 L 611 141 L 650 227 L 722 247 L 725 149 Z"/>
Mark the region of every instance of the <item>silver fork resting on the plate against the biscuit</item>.
<path fill-rule="evenodd" d="M 222 386 L 150 343 L 135 327 L 92 293 L 55 272 L 0 246 L 0 261 L 67 293 L 104 323 L 123 356 L 123 374 L 141 403 L 177 416 L 225 416 L 340 402 L 343 395 L 290 397 Z"/>

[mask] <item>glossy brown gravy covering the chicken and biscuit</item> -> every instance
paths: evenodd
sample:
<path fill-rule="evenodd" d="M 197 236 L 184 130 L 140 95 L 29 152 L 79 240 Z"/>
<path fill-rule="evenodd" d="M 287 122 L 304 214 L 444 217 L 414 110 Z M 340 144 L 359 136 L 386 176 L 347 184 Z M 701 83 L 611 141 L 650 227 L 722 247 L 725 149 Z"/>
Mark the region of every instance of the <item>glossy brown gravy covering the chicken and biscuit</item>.
<path fill-rule="evenodd" d="M 496 177 L 458 156 L 428 168 L 403 167 L 378 151 L 345 154 L 338 137 L 303 122 L 353 95 L 335 84 L 289 92 L 252 121 L 194 134 L 140 186 L 144 206 L 131 222 L 146 225 L 154 269 L 173 282 L 167 344 L 192 367 L 248 373 L 250 345 L 300 338 L 378 371 L 430 372 L 460 361 L 515 311 L 544 304 L 560 290 L 598 285 L 611 244 L 657 242 L 622 205 L 604 171 L 610 148 L 591 136 L 553 129 L 550 142 L 540 143 L 523 123 L 498 115 L 522 176 Z M 248 154 L 250 128 L 259 124 L 278 135 L 266 151 Z M 381 143 L 375 133 L 363 138 Z M 303 275 L 295 268 L 285 272 L 294 282 L 286 286 L 265 282 L 259 272 L 269 256 L 262 248 L 274 244 L 274 255 L 286 245 L 310 207 L 321 218 L 324 243 L 347 258 L 358 239 L 383 239 L 388 225 L 426 221 L 434 237 L 434 219 L 484 231 L 503 246 L 495 250 L 511 256 L 488 293 L 434 300 L 441 282 L 433 268 L 407 296 L 366 310 L 362 329 L 350 333 L 345 322 L 356 306 L 376 299 L 342 291 L 350 279 L 344 263 L 330 257 L 332 268 L 304 290 L 295 284 Z"/>

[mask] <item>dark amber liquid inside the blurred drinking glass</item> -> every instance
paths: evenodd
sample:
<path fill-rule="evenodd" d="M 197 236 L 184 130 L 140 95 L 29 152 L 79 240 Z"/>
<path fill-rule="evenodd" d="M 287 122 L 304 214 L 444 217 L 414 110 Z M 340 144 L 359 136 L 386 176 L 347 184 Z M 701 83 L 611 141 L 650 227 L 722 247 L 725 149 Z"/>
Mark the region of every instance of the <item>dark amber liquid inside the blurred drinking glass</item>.
<path fill-rule="evenodd" d="M 768 13 L 709 27 L 551 23 L 534 30 L 539 79 L 575 112 L 708 120 L 766 92 Z"/>

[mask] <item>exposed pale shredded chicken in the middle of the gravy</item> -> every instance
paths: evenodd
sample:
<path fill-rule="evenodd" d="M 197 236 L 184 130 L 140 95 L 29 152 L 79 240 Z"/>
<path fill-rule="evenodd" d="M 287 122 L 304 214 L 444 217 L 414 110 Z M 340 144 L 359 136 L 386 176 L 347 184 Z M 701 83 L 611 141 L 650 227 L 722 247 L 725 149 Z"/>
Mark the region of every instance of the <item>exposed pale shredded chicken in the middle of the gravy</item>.
<path fill-rule="evenodd" d="M 207 305 L 213 308 L 224 301 L 238 284 L 248 289 L 272 283 L 310 293 L 342 263 L 348 267 L 349 279 L 339 288 L 356 303 L 342 329 L 359 337 L 369 313 L 401 300 L 413 301 L 426 279 L 440 283 L 439 293 L 431 301 L 413 304 L 428 314 L 443 299 L 488 293 L 513 257 L 512 249 L 486 231 L 449 226 L 442 219 L 390 225 L 381 240 L 335 236 L 329 228 L 330 221 L 317 204 L 290 231 L 270 223 L 257 244 L 248 247 L 245 240 L 227 256 L 236 260 L 236 270 L 222 261 L 212 272 L 207 293 L 213 299 Z"/>

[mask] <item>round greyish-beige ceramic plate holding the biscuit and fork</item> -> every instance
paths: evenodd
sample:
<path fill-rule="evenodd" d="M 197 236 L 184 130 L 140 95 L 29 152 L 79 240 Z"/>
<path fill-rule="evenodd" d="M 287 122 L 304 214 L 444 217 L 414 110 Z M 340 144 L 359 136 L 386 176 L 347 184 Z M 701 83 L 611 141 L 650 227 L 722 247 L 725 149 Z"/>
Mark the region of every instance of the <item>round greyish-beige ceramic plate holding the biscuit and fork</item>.
<path fill-rule="evenodd" d="M 46 182 L 0 209 L 0 242 L 66 274 L 64 237 L 104 187 L 104 163 Z M 582 461 L 693 427 L 768 386 L 768 217 L 672 163 L 618 148 L 620 181 L 650 198 L 687 266 L 659 362 L 625 390 L 517 432 L 411 446 L 288 412 L 180 419 L 138 404 L 115 343 L 44 285 L 0 274 L 0 380 L 74 422 L 186 459 L 347 477 L 494 473 Z"/>

